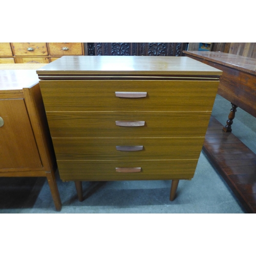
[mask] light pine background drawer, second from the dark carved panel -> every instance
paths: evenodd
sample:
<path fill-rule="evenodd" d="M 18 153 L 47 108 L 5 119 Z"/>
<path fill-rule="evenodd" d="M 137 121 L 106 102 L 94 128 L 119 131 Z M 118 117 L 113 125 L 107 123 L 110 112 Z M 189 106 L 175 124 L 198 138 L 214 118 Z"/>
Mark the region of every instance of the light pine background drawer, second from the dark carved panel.
<path fill-rule="evenodd" d="M 13 42 L 12 49 L 15 56 L 48 55 L 46 42 Z"/>

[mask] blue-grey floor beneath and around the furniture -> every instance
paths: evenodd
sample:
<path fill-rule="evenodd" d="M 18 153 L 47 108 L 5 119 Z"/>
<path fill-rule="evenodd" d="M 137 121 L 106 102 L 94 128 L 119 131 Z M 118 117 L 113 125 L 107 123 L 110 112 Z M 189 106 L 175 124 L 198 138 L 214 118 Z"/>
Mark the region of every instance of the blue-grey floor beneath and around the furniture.
<path fill-rule="evenodd" d="M 230 103 L 217 95 L 212 116 L 225 124 L 230 108 Z M 255 118 L 238 109 L 233 121 L 233 134 L 256 153 Z M 171 181 L 83 182 L 83 202 L 77 199 L 74 182 L 62 182 L 57 174 L 57 184 L 60 212 L 55 210 L 45 178 L 0 178 L 0 213 L 247 213 L 203 153 L 194 178 L 180 181 L 173 202 L 169 201 Z"/>

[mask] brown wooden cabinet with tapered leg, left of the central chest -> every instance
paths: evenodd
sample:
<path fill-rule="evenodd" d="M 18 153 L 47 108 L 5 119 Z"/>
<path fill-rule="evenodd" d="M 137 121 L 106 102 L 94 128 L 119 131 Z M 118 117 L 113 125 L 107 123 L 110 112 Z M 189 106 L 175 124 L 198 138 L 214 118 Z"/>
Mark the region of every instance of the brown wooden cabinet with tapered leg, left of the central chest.
<path fill-rule="evenodd" d="M 56 210 L 61 209 L 56 158 L 35 70 L 0 70 L 0 158 L 0 177 L 46 177 Z"/>

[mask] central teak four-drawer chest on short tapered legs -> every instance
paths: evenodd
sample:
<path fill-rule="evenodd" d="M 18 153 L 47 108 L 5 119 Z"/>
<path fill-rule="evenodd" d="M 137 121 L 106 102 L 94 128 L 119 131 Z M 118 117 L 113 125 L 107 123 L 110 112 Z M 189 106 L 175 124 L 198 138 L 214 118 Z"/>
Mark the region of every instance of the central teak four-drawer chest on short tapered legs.
<path fill-rule="evenodd" d="M 188 57 L 63 56 L 37 70 L 60 178 L 194 176 L 221 71 Z"/>

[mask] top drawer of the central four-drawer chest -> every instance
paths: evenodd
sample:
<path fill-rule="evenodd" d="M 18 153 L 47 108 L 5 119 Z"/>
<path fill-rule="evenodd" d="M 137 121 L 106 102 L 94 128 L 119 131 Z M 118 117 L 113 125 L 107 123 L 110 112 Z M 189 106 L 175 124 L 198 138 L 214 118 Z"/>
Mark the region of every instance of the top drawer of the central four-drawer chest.
<path fill-rule="evenodd" d="M 46 111 L 211 111 L 219 81 L 63 80 L 40 82 Z M 144 93 L 129 98 L 116 92 Z"/>

